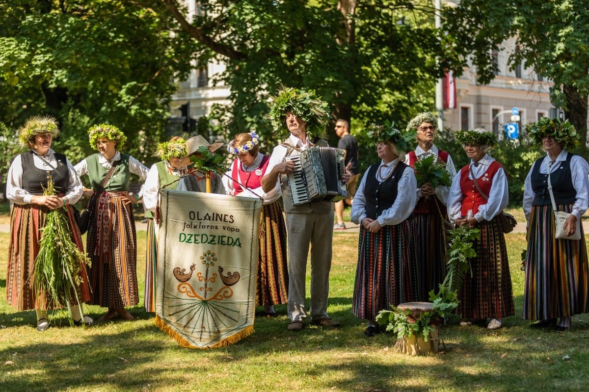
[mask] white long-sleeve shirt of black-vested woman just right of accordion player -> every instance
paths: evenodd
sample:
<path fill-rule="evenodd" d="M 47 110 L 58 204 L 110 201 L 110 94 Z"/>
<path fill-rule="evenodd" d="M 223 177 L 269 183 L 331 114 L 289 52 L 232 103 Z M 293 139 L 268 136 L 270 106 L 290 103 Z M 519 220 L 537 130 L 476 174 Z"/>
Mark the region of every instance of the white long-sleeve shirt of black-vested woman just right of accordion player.
<path fill-rule="evenodd" d="M 395 168 L 395 165 L 398 161 L 398 158 L 389 162 L 388 164 L 380 161 L 380 165 L 375 173 L 376 180 L 382 182 L 379 178 L 379 172 L 383 178 L 386 178 L 389 174 L 391 174 L 391 171 Z M 380 167 L 382 167 L 382 171 L 380 171 Z M 352 203 L 350 220 L 356 224 L 360 224 L 364 218 L 368 217 L 368 215 L 366 215 L 366 197 L 364 195 L 364 188 L 366 185 L 366 177 L 368 177 L 368 173 L 369 170 L 366 170 L 362 176 L 362 181 L 360 181 L 360 186 L 358 187 L 358 191 L 356 191 L 354 202 Z M 381 226 L 397 225 L 409 218 L 413 212 L 413 209 L 415 208 L 415 203 L 417 200 L 415 193 L 416 188 L 417 180 L 415 180 L 415 173 L 413 172 L 413 169 L 409 167 L 403 171 L 403 174 L 399 179 L 395 202 L 393 202 L 393 205 L 390 208 L 384 210 L 382 214 L 376 218 Z"/>

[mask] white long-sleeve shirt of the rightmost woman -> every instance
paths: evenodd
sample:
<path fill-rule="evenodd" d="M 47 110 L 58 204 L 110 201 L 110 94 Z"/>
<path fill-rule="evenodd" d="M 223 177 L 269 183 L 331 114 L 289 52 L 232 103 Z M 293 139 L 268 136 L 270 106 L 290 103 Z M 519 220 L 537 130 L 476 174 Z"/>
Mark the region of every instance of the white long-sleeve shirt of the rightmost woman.
<path fill-rule="evenodd" d="M 562 150 L 558 157 L 556 158 L 554 164 L 550 167 L 550 172 L 554 172 L 558 170 L 562 161 L 567 160 L 567 150 Z M 541 162 L 540 166 L 540 173 L 547 174 L 547 165 L 550 162 L 550 157 L 546 154 L 544 160 Z M 530 213 L 532 211 L 532 202 L 534 201 L 535 193 L 532 191 L 532 171 L 534 171 L 534 166 L 537 162 L 534 162 L 534 165 L 530 168 L 528 175 L 525 177 L 525 184 L 524 184 L 524 214 L 525 219 L 530 222 Z M 589 164 L 587 161 L 580 157 L 579 155 L 573 155 L 571 157 L 571 179 L 573 180 L 573 188 L 575 189 L 576 196 L 575 202 L 573 204 L 573 211 L 571 214 L 575 215 L 577 219 L 581 219 L 581 216 L 587 211 L 589 208 Z"/>

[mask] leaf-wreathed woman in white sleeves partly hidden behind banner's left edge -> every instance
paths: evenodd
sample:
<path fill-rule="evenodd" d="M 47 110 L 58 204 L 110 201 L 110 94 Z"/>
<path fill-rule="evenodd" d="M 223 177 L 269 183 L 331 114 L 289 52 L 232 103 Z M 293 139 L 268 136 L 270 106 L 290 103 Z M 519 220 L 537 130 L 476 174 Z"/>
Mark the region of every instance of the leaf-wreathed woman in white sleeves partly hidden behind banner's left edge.
<path fill-rule="evenodd" d="M 161 159 L 153 164 L 143 185 L 143 205 L 147 212 L 147 248 L 145 251 L 145 311 L 155 311 L 155 278 L 157 276 L 157 240 L 155 237 L 154 214 L 161 187 L 175 190 L 178 180 L 188 174 L 192 165 L 186 151 L 186 140 L 174 136 L 157 145 L 155 157 Z"/>

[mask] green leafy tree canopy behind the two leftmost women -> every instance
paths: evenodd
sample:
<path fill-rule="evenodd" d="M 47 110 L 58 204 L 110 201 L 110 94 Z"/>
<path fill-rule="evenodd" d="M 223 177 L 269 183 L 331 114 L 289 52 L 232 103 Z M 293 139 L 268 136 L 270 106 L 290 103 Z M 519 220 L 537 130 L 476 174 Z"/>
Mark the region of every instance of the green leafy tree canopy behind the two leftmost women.
<path fill-rule="evenodd" d="M 74 163 L 91 152 L 88 128 L 105 122 L 125 132 L 125 151 L 150 157 L 145 146 L 163 134 L 171 81 L 186 77 L 194 48 L 169 12 L 147 5 L 2 2 L 0 122 L 16 129 L 54 115 L 62 129 L 54 148 Z"/>

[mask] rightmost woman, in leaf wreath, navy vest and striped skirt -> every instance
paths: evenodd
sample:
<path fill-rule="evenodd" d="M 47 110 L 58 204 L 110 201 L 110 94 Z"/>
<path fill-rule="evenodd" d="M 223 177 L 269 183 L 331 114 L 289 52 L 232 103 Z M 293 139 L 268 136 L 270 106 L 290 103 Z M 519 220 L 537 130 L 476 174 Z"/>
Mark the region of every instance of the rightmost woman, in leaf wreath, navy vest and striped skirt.
<path fill-rule="evenodd" d="M 558 211 L 570 213 L 564 224 L 570 236 L 589 206 L 589 165 L 567 151 L 579 143 L 579 135 L 568 121 L 541 118 L 531 124 L 529 135 L 546 156 L 534 162 L 524 185 L 528 221 L 524 319 L 539 320 L 532 328 L 566 331 L 571 316 L 589 313 L 587 247 L 583 225 L 579 227 L 580 240 L 555 237 L 548 176 Z"/>

